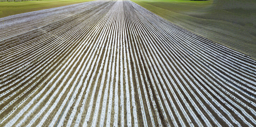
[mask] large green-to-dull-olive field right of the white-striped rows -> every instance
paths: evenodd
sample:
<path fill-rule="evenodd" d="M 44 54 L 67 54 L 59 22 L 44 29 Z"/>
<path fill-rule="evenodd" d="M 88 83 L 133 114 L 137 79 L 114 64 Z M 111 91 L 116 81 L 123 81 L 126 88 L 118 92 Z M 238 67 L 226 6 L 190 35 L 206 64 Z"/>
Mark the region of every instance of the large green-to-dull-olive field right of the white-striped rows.
<path fill-rule="evenodd" d="M 256 59 L 255 0 L 132 0 L 182 28 Z"/>

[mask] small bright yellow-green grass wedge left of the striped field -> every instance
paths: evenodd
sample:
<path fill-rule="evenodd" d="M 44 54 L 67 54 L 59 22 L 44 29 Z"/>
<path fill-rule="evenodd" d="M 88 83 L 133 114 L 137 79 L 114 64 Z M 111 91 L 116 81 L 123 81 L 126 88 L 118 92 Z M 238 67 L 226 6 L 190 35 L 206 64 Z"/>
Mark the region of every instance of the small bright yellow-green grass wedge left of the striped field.
<path fill-rule="evenodd" d="M 0 2 L 0 18 L 31 11 L 78 4 L 93 0 L 40 0 L 22 2 Z"/>

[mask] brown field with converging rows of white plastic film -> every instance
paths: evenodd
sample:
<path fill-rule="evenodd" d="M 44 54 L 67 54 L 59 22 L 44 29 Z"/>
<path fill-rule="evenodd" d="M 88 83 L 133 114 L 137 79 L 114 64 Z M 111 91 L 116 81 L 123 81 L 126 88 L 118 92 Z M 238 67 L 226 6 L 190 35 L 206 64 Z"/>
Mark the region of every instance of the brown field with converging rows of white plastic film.
<path fill-rule="evenodd" d="M 256 126 L 256 61 L 133 1 L 0 20 L 0 127 Z"/>

